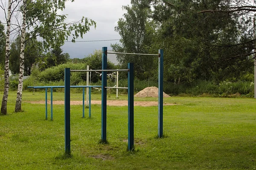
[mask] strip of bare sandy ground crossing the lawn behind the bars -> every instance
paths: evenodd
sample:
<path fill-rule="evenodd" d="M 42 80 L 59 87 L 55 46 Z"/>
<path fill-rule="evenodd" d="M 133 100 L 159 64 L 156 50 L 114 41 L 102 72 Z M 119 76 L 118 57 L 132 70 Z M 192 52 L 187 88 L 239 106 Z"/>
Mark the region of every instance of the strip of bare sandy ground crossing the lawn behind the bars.
<path fill-rule="evenodd" d="M 29 101 L 25 101 L 29 102 Z M 92 105 L 101 105 L 101 100 L 91 100 Z M 45 104 L 45 100 L 40 100 L 40 101 L 32 101 L 29 102 L 32 104 Z M 51 104 L 51 101 L 47 101 L 48 104 Z M 53 105 L 64 105 L 64 101 L 62 100 L 57 100 L 57 101 L 52 101 Z M 84 102 L 86 103 L 86 102 Z M 83 101 L 70 101 L 70 105 L 82 105 Z M 109 106 L 127 106 L 128 101 L 127 100 L 108 100 L 107 105 Z M 144 102 L 144 101 L 134 101 L 135 106 L 157 106 L 158 102 Z M 164 103 L 163 105 L 176 105 L 172 103 Z"/>

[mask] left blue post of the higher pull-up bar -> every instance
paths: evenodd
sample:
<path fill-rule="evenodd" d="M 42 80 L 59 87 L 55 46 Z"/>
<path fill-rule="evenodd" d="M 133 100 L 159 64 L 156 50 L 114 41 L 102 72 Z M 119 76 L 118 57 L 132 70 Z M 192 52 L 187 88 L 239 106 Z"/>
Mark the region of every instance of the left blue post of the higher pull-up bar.
<path fill-rule="evenodd" d="M 102 47 L 102 70 L 107 69 L 108 48 Z M 102 142 L 107 142 L 107 72 L 102 71 Z"/>

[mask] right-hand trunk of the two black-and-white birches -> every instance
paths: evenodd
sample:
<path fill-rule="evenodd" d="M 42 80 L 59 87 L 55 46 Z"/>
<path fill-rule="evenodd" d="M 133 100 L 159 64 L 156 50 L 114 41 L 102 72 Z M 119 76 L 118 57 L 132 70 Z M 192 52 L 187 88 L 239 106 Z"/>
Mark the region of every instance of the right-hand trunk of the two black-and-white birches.
<path fill-rule="evenodd" d="M 22 31 L 21 31 L 21 45 L 20 45 L 20 73 L 19 73 L 19 84 L 17 90 L 17 98 L 15 105 L 15 112 L 21 110 L 22 102 L 22 88 L 23 88 L 23 74 L 24 74 L 24 57 L 25 57 L 25 39 L 26 39 L 26 0 L 23 0 L 23 19 L 22 19 Z"/>

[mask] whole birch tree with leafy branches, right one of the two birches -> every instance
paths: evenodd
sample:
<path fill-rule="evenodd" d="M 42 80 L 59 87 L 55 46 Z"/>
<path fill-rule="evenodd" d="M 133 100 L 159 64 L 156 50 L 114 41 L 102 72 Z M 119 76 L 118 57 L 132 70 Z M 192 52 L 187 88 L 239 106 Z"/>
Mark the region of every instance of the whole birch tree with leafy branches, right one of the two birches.
<path fill-rule="evenodd" d="M 64 45 L 64 40 L 72 37 L 72 42 L 90 30 L 90 26 L 96 27 L 96 23 L 86 17 L 79 21 L 65 23 L 67 15 L 58 14 L 63 11 L 67 0 L 23 0 L 21 11 L 23 12 L 22 40 L 20 51 L 20 73 L 17 90 L 15 112 L 21 110 L 23 73 L 24 73 L 24 48 L 25 42 L 30 38 L 41 39 L 41 46 L 45 50 Z M 71 0 L 72 2 L 74 0 Z M 27 33 L 26 33 L 27 31 Z M 26 34 L 28 35 L 26 39 Z"/>

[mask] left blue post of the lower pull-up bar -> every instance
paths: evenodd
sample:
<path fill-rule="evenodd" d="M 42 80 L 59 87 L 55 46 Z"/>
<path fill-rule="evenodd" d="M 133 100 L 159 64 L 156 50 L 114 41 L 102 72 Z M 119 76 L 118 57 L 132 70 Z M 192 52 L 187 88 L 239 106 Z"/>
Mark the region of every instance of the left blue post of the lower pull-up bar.
<path fill-rule="evenodd" d="M 64 91 L 65 153 L 70 155 L 70 68 L 65 68 Z"/>

